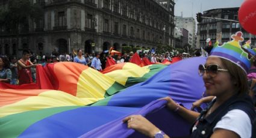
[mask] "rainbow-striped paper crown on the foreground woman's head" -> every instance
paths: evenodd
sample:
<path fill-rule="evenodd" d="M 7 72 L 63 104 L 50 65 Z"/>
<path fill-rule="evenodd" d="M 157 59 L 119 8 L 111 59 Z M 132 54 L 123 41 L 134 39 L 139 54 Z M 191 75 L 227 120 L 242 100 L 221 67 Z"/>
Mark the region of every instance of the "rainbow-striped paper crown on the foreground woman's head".
<path fill-rule="evenodd" d="M 240 42 L 244 40 L 242 32 L 237 32 L 235 35 L 232 35 L 231 38 L 233 38 L 233 41 L 224 43 L 222 46 L 216 44 L 211 50 L 210 56 L 227 59 L 238 65 L 247 74 L 248 70 L 251 68 L 251 57 L 254 56 L 250 52 L 251 47 L 248 47 L 249 43 L 246 43 L 243 47 L 240 46 Z"/>

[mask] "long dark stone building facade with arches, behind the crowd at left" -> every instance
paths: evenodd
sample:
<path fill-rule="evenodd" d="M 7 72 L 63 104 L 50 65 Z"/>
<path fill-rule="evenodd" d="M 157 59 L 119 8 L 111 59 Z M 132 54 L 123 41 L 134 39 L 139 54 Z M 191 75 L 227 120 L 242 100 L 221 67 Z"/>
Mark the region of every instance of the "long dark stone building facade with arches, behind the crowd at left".
<path fill-rule="evenodd" d="M 51 55 L 102 52 L 111 46 L 154 48 L 172 44 L 173 0 L 33 0 L 44 9 L 41 20 L 30 20 L 16 35 L 0 33 L 0 53 L 20 56 L 23 49 Z M 6 3 L 0 3 L 5 7 Z M 19 42 L 17 42 L 19 40 Z"/>

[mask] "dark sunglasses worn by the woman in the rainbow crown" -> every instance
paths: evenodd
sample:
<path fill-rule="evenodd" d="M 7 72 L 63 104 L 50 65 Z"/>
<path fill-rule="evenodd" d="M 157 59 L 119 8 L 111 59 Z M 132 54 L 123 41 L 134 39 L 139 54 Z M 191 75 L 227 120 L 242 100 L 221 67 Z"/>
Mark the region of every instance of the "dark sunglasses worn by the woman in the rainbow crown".
<path fill-rule="evenodd" d="M 211 77 L 215 77 L 217 76 L 217 72 L 218 71 L 228 71 L 228 70 L 225 70 L 225 69 L 222 69 L 222 68 L 219 68 L 218 65 L 207 65 L 206 67 L 204 65 L 199 65 L 198 67 L 198 73 L 199 73 L 199 76 L 203 76 L 205 71 L 207 72 L 207 74 L 209 74 Z"/>

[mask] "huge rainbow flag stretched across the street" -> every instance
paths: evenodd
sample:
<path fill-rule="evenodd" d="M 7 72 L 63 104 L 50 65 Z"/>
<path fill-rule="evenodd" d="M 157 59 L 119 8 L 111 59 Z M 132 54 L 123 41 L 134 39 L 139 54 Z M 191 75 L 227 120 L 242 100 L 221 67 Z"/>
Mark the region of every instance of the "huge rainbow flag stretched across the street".
<path fill-rule="evenodd" d="M 122 123 L 134 113 L 146 116 L 169 136 L 186 136 L 189 124 L 157 99 L 170 96 L 190 108 L 205 91 L 197 74 L 204 62 L 192 58 L 146 67 L 125 63 L 102 73 L 70 62 L 37 67 L 37 83 L 32 86 L 1 83 L 0 136 L 141 137 Z"/>

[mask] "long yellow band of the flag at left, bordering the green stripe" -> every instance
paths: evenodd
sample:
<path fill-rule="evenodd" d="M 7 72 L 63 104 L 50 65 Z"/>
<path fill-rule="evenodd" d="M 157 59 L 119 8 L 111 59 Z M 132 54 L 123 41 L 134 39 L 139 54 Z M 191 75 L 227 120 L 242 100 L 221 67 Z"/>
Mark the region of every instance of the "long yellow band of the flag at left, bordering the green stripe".
<path fill-rule="evenodd" d="M 33 91 L 33 90 L 31 90 Z M 13 104 L 0 107 L 0 118 L 22 113 L 31 110 L 40 110 L 61 106 L 84 106 L 101 100 L 102 98 L 78 98 L 62 91 L 49 90 L 42 92 L 38 96 L 25 98 Z"/>

